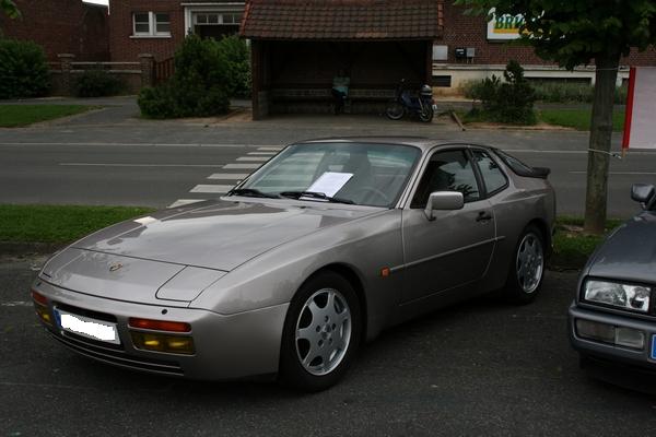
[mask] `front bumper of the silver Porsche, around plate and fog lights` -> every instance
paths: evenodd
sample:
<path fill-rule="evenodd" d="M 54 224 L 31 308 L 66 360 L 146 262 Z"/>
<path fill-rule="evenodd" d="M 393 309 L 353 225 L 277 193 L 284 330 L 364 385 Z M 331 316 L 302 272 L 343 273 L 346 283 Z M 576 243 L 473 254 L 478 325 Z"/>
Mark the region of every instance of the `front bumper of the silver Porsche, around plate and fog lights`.
<path fill-rule="evenodd" d="M 222 380 L 270 375 L 278 371 L 282 328 L 289 304 L 230 316 L 204 309 L 154 306 L 71 292 L 37 280 L 33 290 L 48 298 L 47 308 L 94 311 L 115 318 L 120 345 L 69 334 L 43 322 L 48 332 L 69 349 L 112 365 L 190 379 Z M 192 355 L 138 350 L 132 345 L 130 317 L 172 320 L 191 324 Z"/>

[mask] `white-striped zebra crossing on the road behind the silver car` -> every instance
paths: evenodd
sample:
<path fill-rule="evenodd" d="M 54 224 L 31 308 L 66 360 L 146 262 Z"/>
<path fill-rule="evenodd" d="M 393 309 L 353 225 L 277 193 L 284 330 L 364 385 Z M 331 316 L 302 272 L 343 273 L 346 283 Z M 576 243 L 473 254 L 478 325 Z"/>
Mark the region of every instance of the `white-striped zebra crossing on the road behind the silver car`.
<path fill-rule="evenodd" d="M 177 199 L 168 205 L 168 208 L 183 206 L 190 203 L 202 202 L 208 198 L 215 198 L 225 194 L 235 185 L 246 178 L 250 173 L 259 168 L 262 164 L 269 161 L 273 155 L 280 152 L 282 147 L 262 146 L 255 152 L 248 152 L 245 156 L 236 158 L 235 163 L 229 163 L 221 167 L 222 173 L 213 173 L 206 179 L 206 184 L 199 184 L 189 190 L 189 198 Z M 230 172 L 236 170 L 236 172 Z M 212 184 L 215 182 L 215 184 Z M 198 198 L 196 196 L 199 196 Z"/>

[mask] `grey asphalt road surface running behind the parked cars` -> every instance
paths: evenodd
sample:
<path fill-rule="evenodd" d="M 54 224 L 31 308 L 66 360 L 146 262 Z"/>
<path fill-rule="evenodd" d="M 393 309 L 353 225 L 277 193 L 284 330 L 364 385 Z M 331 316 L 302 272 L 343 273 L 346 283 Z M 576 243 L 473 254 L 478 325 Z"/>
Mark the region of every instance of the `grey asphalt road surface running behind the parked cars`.
<path fill-rule="evenodd" d="M 279 116 L 253 122 L 246 113 L 227 119 L 147 121 L 129 99 L 101 101 L 105 109 L 25 129 L 0 129 L 1 203 L 130 204 L 162 208 L 190 192 L 226 164 L 293 141 L 335 135 L 424 135 L 487 143 L 552 168 L 550 180 L 563 214 L 583 214 L 588 135 L 575 131 L 483 130 L 461 132 L 448 119 L 423 125 L 376 116 Z M 96 102 L 91 102 L 96 104 Z M 619 135 L 613 139 L 618 149 Z M 656 154 L 612 158 L 609 214 L 628 217 L 633 182 L 656 182 Z M 242 170 L 249 173 L 251 169 Z M 232 185 L 235 180 L 224 184 Z"/>

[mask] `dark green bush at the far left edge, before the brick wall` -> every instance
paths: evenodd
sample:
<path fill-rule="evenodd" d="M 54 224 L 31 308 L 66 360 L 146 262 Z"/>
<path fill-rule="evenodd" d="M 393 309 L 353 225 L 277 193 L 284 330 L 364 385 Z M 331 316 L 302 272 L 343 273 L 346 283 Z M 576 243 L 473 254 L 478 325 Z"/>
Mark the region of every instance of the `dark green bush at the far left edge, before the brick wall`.
<path fill-rule="evenodd" d="M 39 97 L 49 88 L 44 49 L 32 42 L 0 38 L 0 98 Z"/>

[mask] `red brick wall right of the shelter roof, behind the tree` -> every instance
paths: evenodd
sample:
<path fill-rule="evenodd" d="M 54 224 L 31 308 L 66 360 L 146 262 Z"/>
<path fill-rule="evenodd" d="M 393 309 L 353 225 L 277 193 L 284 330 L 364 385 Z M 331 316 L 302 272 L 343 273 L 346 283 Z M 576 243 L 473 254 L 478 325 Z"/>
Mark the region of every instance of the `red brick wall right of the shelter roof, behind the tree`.
<path fill-rule="evenodd" d="M 475 64 L 505 64 L 509 59 L 515 59 L 522 64 L 550 64 L 536 56 L 530 47 L 513 46 L 503 42 L 488 42 L 488 24 L 484 16 L 465 15 L 466 8 L 456 7 L 453 0 L 444 4 L 444 38 L 448 45 L 449 63 L 456 61 L 454 49 L 456 47 L 475 47 Z M 440 43 L 442 43 L 440 42 Z M 634 52 L 622 60 L 622 64 L 656 66 L 656 50 L 651 48 L 644 52 Z"/>

